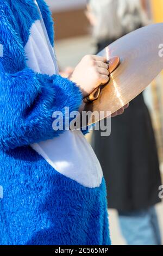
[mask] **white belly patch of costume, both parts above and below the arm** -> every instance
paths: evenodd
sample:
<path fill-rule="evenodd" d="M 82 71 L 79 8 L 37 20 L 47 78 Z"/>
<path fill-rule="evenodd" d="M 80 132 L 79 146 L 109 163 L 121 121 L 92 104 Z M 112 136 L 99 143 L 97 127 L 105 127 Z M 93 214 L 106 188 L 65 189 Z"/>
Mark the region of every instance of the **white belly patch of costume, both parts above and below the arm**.
<path fill-rule="evenodd" d="M 41 74 L 56 74 L 56 63 L 49 51 L 40 20 L 35 21 L 30 29 L 25 51 L 29 68 Z M 101 165 L 81 131 L 65 131 L 57 138 L 35 143 L 31 147 L 66 177 L 85 187 L 95 188 L 101 185 Z"/>

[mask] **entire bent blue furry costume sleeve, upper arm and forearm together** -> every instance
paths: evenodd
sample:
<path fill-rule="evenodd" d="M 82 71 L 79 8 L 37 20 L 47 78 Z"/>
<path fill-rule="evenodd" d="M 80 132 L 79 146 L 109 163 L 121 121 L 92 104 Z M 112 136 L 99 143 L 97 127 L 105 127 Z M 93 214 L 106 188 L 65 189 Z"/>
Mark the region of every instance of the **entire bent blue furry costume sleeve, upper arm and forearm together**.
<path fill-rule="evenodd" d="M 27 68 L 21 36 L 0 9 L 0 149 L 45 141 L 58 136 L 55 111 L 78 111 L 80 89 L 59 75 L 36 74 Z M 14 19 L 14 18 L 13 18 Z"/>

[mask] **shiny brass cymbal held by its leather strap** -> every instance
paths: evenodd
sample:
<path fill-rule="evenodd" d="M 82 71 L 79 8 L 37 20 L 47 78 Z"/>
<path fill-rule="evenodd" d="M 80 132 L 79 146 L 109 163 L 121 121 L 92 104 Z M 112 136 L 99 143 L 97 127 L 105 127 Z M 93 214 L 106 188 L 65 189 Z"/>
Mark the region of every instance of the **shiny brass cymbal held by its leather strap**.
<path fill-rule="evenodd" d="M 154 80 L 163 69 L 160 44 L 163 44 L 163 23 L 156 23 L 123 36 L 98 53 L 108 60 L 118 56 L 121 63 L 110 75 L 109 83 L 101 88 L 98 99 L 86 103 L 84 111 L 105 112 L 103 117 L 90 116 L 87 125 L 108 117 L 106 111 L 112 114 L 122 108 Z"/>

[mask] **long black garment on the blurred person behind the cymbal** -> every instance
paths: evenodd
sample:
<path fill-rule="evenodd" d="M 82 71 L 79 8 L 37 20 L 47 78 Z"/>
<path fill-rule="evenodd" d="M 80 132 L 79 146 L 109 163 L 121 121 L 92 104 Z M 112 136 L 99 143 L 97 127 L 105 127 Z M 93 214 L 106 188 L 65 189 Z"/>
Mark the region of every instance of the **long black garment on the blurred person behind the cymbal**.
<path fill-rule="evenodd" d="M 93 132 L 92 147 L 103 168 L 109 208 L 139 210 L 160 202 L 158 153 L 142 94 L 123 115 L 111 119 L 111 136 Z"/>

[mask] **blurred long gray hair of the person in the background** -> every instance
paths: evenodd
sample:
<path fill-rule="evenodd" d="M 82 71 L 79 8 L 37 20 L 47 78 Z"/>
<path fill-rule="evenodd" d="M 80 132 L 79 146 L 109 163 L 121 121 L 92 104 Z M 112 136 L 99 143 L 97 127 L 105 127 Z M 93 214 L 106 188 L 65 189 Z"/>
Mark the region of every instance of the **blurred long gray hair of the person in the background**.
<path fill-rule="evenodd" d="M 140 0 L 90 0 L 89 4 L 97 19 L 93 28 L 97 40 L 117 39 L 149 22 Z"/>

